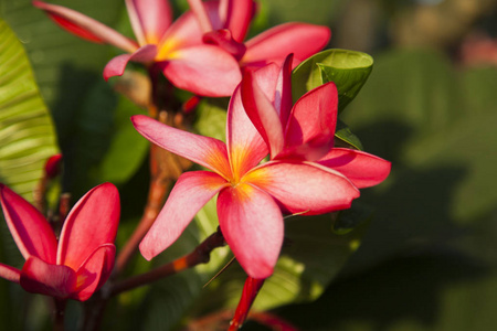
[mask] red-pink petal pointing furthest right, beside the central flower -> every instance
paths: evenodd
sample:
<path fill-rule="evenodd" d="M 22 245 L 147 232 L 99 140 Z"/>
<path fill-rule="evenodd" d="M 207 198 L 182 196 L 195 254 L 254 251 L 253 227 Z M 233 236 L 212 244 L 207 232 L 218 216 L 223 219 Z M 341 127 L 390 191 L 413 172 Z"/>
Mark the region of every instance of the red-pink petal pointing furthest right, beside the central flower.
<path fill-rule="evenodd" d="M 391 168 L 387 160 L 346 148 L 334 148 L 318 163 L 342 173 L 359 189 L 381 183 Z"/>

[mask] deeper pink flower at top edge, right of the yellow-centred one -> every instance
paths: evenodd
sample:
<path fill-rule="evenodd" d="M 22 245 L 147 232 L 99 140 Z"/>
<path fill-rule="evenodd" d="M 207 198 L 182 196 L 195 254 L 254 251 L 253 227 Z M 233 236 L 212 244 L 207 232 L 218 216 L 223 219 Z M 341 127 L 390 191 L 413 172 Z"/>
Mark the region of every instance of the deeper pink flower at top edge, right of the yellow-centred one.
<path fill-rule="evenodd" d="M 244 42 L 255 13 L 254 0 L 189 0 L 202 30 L 204 42 L 232 53 L 244 68 L 260 68 L 268 63 L 281 65 L 294 53 L 294 66 L 320 51 L 331 32 L 327 26 L 290 22 L 274 26 Z"/>

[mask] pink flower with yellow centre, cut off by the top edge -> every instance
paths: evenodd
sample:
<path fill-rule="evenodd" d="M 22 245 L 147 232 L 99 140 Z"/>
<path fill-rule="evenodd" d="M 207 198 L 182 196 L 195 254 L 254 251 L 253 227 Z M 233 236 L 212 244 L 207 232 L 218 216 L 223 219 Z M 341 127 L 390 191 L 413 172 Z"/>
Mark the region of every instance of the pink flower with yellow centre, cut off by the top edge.
<path fill-rule="evenodd" d="M 172 23 L 167 0 L 126 0 L 137 42 L 72 9 L 42 1 L 33 4 L 65 30 L 128 53 L 110 60 L 104 70 L 105 79 L 123 75 L 129 61 L 156 63 L 175 86 L 219 97 L 231 95 L 242 78 L 237 62 L 229 53 L 202 42 L 203 32 L 191 12 Z"/>

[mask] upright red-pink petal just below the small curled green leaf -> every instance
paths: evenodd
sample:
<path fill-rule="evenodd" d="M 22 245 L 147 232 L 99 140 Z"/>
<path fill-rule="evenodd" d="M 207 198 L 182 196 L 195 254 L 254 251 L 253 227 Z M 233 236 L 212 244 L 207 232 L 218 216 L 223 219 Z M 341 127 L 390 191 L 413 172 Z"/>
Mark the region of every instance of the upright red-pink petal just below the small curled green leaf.
<path fill-rule="evenodd" d="M 338 92 L 327 83 L 306 93 L 294 105 L 285 131 L 285 157 L 322 158 L 334 142 Z"/>

